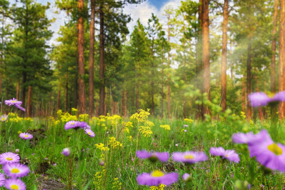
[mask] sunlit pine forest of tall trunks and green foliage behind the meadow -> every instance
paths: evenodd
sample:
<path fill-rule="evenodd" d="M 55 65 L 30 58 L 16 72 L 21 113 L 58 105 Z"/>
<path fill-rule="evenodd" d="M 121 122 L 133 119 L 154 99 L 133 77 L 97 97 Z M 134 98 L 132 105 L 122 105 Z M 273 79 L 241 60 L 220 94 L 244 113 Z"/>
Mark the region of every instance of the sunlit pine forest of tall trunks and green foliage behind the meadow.
<path fill-rule="evenodd" d="M 143 0 L 56 0 L 68 21 L 53 45 L 50 3 L 0 2 L 1 102 L 23 101 L 25 117 L 149 108 L 158 118 L 262 120 L 268 111 L 248 95 L 285 88 L 284 0 L 181 1 L 166 7 L 167 22 L 152 13 L 132 32 L 123 7 Z"/>

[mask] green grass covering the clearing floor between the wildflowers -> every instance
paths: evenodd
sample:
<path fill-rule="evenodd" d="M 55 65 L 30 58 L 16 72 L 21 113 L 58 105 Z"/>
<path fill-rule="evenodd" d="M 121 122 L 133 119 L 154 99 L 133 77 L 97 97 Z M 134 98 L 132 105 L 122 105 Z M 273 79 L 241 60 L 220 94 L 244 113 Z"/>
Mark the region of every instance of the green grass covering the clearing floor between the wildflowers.
<path fill-rule="evenodd" d="M 62 114 L 63 115 L 63 114 Z M 63 116 L 68 119 L 68 116 Z M 103 119 L 93 118 L 87 120 L 91 129 L 95 132 L 94 138 L 84 133 L 84 130 L 64 130 L 66 121 L 56 121 L 58 118 L 33 118 L 33 121 L 22 120 L 13 122 L 9 136 L 13 142 L 9 151 L 23 150 L 25 140 L 19 138 L 19 131 L 30 132 L 34 138 L 27 140 L 24 152 L 19 152 L 22 162 L 30 167 L 28 176 L 23 177 L 27 189 L 34 185 L 42 189 L 40 183 L 42 176 L 46 179 L 59 180 L 66 188 L 74 189 L 150 189 L 148 186 L 137 184 L 137 175 L 143 172 L 151 172 L 152 169 L 160 169 L 166 172 L 178 172 L 177 183 L 165 187 L 165 189 L 235 189 L 237 180 L 249 181 L 252 189 L 282 189 L 285 178 L 282 173 L 264 174 L 262 166 L 249 157 L 247 145 L 234 144 L 231 136 L 236 132 L 254 132 L 270 127 L 270 121 L 247 122 L 241 116 L 228 116 L 224 121 L 201 122 L 194 120 L 187 122 L 181 119 L 162 119 L 148 117 L 154 123 L 151 127 L 152 134 L 144 137 L 138 132 L 140 126 L 147 126 L 145 121 L 138 124 L 132 120 L 133 127 L 126 130 L 122 121 L 128 122 L 130 118 Z M 79 119 L 79 118 L 78 118 Z M 190 118 L 194 119 L 194 118 Z M 113 121 L 113 123 L 112 123 Z M 115 123 L 117 121 L 117 123 Z M 161 128 L 160 125 L 170 126 L 170 130 Z M 184 128 L 183 125 L 189 126 Z M 107 127 L 107 129 L 105 128 Z M 1 122 L 1 153 L 6 152 L 6 144 L 3 140 L 5 128 Z M 184 130 L 187 132 L 184 132 Z M 284 144 L 284 129 L 280 128 L 280 142 Z M 122 143 L 122 147 L 116 148 L 108 145 L 109 137 L 114 136 Z M 132 136 L 132 138 L 130 138 Z M 108 151 L 101 151 L 94 144 L 103 143 Z M 222 146 L 225 150 L 233 149 L 239 153 L 240 163 L 230 163 L 219 157 L 209 155 L 210 147 Z M 61 154 L 62 149 L 70 147 L 72 154 L 65 157 Z M 193 165 L 173 162 L 156 162 L 152 164 L 148 160 L 136 157 L 136 151 L 146 149 L 158 152 L 167 151 L 203 151 L 209 159 Z M 98 164 L 102 159 L 104 166 Z M 192 182 L 184 182 L 182 175 L 192 173 Z M 118 179 L 117 179 L 118 178 Z"/>

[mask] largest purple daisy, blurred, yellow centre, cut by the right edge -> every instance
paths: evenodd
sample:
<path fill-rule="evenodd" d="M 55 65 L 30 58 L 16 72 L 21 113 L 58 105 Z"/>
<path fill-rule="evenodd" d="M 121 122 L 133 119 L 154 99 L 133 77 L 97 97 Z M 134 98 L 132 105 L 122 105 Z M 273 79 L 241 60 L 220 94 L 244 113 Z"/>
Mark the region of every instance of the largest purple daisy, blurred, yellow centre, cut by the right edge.
<path fill-rule="evenodd" d="M 260 133 L 262 133 L 262 139 L 248 146 L 250 157 L 255 156 L 256 160 L 265 167 L 285 172 L 285 146 L 274 143 L 266 130 Z"/>

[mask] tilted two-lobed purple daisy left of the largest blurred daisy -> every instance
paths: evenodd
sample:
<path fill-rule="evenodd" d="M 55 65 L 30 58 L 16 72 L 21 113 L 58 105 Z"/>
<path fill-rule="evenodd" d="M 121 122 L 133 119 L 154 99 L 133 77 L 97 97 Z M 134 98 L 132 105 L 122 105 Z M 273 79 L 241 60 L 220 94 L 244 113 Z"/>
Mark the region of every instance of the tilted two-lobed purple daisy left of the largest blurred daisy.
<path fill-rule="evenodd" d="M 223 147 L 211 147 L 210 154 L 221 156 L 222 159 L 227 159 L 239 163 L 239 155 L 234 150 L 225 150 Z"/>

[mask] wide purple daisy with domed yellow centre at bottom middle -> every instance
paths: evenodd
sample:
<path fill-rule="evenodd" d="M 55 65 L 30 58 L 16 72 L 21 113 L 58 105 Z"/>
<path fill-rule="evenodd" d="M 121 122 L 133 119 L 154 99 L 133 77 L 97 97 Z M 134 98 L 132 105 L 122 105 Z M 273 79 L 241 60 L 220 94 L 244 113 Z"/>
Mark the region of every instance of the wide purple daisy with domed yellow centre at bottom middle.
<path fill-rule="evenodd" d="M 158 186 L 159 184 L 170 185 L 178 181 L 178 173 L 164 173 L 160 170 L 154 170 L 151 173 L 142 173 L 137 177 L 140 185 Z"/>

